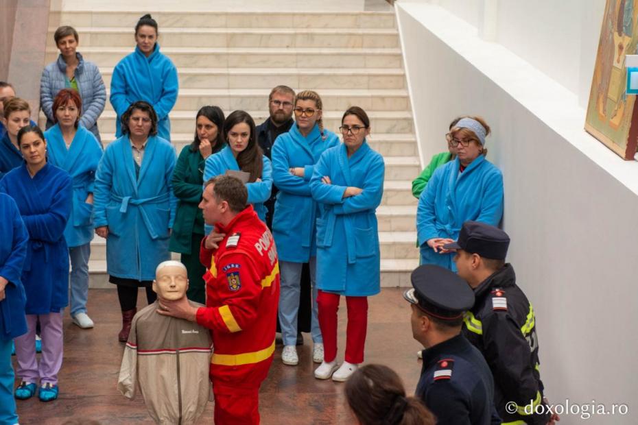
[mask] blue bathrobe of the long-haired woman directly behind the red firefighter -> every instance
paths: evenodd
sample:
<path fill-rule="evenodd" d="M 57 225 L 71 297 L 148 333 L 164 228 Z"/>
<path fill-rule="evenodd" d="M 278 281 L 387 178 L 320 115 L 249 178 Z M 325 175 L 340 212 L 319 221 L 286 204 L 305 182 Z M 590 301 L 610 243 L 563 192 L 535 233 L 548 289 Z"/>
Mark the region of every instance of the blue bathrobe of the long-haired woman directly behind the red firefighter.
<path fill-rule="evenodd" d="M 259 219 L 265 223 L 266 208 L 263 203 L 268 201 L 272 190 L 272 167 L 267 156 L 263 155 L 262 158 L 261 182 L 246 183 L 246 189 L 248 189 L 248 204 L 252 204 L 252 208 L 255 208 L 255 213 L 257 213 Z M 228 170 L 241 171 L 239 165 L 237 165 L 237 160 L 233 156 L 233 150 L 227 145 L 217 154 L 206 158 L 204 184 L 217 175 L 225 174 Z M 206 234 L 209 234 L 211 230 L 213 230 L 213 226 L 208 224 L 204 226 Z"/>

